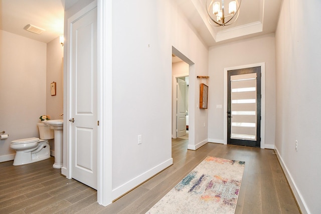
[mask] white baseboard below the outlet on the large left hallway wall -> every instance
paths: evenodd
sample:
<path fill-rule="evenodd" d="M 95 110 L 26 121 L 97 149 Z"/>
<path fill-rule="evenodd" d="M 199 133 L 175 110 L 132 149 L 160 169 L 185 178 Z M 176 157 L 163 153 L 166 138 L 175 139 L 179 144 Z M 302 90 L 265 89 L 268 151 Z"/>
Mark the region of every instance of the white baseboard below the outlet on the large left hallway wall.
<path fill-rule="evenodd" d="M 127 181 L 126 183 L 122 184 L 121 186 L 118 186 L 112 190 L 112 199 L 116 199 L 120 197 L 121 195 L 125 194 L 126 192 L 130 191 L 131 189 L 135 188 L 136 186 L 140 185 L 147 179 L 151 178 L 158 172 L 164 170 L 165 168 L 169 167 L 173 164 L 173 158 L 170 158 L 166 161 L 164 161 L 161 164 L 158 164 L 157 166 L 149 169 L 148 171 L 138 175 L 137 177 Z"/>

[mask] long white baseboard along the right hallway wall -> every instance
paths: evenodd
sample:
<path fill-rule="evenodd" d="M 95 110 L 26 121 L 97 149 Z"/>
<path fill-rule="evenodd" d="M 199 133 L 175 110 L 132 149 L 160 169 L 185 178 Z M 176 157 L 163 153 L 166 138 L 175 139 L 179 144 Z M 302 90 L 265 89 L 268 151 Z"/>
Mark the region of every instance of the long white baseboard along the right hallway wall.
<path fill-rule="evenodd" d="M 281 167 L 282 167 L 282 169 L 283 169 L 283 171 L 284 171 L 284 173 L 285 173 L 285 176 L 286 176 L 286 178 L 287 178 L 287 180 L 288 180 L 288 182 L 289 182 L 289 185 L 290 185 L 290 187 L 291 187 L 291 189 L 292 189 L 292 191 L 293 191 L 294 197 L 295 197 L 295 199 L 296 199 L 296 201 L 297 201 L 297 203 L 298 203 L 298 205 L 299 205 L 302 213 L 303 213 L 303 214 L 311 213 L 311 212 L 308 210 L 307 205 L 306 205 L 306 203 L 305 203 L 305 201 L 304 201 L 304 199 L 303 199 L 300 191 L 298 190 L 298 188 L 297 188 L 297 186 L 296 186 L 296 184 L 295 184 L 295 182 L 294 182 L 294 180 L 293 180 L 293 177 L 292 177 L 291 173 L 290 173 L 289 170 L 287 169 L 287 167 L 286 167 L 286 165 L 285 165 L 282 157 L 279 155 L 279 152 L 278 152 L 278 150 L 277 150 L 277 147 L 276 147 L 276 146 L 274 146 L 274 147 L 275 147 L 274 149 L 275 149 L 276 152 L 277 152 L 277 158 L 279 159 L 279 162 L 280 162 L 280 164 L 281 164 Z"/>

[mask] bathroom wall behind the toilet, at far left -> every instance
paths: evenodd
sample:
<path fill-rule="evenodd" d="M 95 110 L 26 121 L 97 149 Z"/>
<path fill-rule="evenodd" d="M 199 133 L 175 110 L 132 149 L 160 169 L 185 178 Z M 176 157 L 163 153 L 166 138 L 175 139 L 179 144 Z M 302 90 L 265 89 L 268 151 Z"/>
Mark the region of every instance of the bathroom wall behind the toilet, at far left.
<path fill-rule="evenodd" d="M 0 162 L 13 160 L 12 140 L 39 137 L 37 123 L 46 114 L 47 45 L 0 30 Z"/>

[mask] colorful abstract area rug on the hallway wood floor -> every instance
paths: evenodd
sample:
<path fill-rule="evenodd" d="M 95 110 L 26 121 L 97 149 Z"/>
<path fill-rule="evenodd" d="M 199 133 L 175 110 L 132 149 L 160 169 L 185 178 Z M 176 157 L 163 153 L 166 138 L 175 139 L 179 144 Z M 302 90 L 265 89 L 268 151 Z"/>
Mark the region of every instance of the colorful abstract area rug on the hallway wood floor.
<path fill-rule="evenodd" d="M 244 163 L 206 157 L 146 213 L 234 213 Z"/>

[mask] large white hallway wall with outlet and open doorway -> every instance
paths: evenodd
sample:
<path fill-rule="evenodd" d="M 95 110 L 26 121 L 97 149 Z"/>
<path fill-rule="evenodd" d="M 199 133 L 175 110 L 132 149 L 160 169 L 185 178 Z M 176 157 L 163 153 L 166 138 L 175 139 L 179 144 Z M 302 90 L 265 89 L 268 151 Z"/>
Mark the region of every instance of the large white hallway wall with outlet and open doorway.
<path fill-rule="evenodd" d="M 112 188 L 116 197 L 133 188 L 134 181 L 151 176 L 153 169 L 172 163 L 172 46 L 195 63 L 190 70 L 190 123 L 197 133 L 192 141 L 207 139 L 203 128 L 207 113 L 196 109 L 199 88 L 195 84 L 197 75 L 207 75 L 208 49 L 173 1 L 113 1 L 112 7 Z"/>

